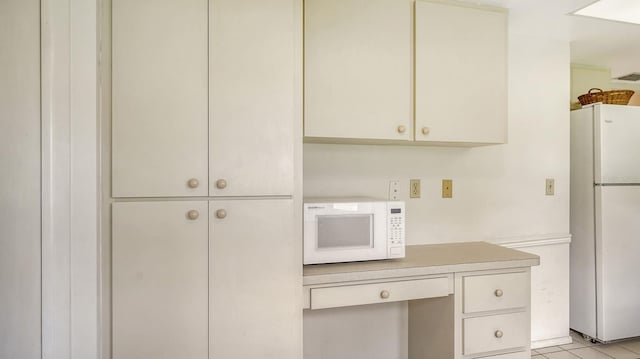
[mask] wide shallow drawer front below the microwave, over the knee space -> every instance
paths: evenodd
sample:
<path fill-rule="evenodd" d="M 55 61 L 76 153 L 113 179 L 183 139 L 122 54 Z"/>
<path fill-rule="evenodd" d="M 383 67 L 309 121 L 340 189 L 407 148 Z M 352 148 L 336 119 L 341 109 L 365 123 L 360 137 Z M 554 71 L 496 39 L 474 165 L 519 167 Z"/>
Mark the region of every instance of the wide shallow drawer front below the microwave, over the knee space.
<path fill-rule="evenodd" d="M 451 294 L 450 277 L 311 289 L 311 309 L 397 302 Z"/>

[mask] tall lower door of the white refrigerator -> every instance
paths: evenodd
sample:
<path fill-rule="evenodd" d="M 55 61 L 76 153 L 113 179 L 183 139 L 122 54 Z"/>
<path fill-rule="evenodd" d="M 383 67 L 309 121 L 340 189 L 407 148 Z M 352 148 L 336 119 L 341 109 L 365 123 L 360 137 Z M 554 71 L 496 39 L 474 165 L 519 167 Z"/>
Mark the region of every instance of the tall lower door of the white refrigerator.
<path fill-rule="evenodd" d="M 610 341 L 637 337 L 640 186 L 596 186 L 595 200 L 597 338 Z"/>

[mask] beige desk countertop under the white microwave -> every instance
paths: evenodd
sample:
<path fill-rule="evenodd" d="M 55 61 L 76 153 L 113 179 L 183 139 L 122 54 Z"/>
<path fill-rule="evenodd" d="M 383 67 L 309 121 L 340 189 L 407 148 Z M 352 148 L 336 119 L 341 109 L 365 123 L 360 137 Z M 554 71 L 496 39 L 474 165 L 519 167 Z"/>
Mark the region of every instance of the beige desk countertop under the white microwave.
<path fill-rule="evenodd" d="M 529 267 L 540 257 L 486 242 L 414 245 L 406 257 L 379 261 L 312 264 L 303 269 L 303 285 L 410 277 L 489 269 Z"/>

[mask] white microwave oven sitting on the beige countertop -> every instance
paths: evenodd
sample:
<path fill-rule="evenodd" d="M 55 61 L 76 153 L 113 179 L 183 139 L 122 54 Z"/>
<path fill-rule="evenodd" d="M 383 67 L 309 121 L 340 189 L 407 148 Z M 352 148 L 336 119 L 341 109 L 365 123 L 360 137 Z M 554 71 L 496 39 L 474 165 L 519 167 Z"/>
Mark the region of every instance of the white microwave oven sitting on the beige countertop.
<path fill-rule="evenodd" d="M 304 264 L 404 258 L 404 202 L 305 199 Z"/>

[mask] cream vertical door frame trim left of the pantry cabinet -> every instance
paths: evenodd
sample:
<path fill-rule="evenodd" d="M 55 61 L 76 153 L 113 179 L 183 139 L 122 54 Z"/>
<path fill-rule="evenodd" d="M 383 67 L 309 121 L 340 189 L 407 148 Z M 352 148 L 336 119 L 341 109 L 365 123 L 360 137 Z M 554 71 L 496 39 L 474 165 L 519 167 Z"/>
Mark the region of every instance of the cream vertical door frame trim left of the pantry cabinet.
<path fill-rule="evenodd" d="M 99 9 L 41 0 L 42 358 L 100 357 Z"/>

